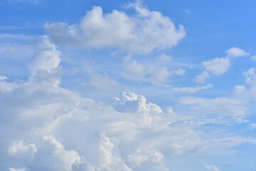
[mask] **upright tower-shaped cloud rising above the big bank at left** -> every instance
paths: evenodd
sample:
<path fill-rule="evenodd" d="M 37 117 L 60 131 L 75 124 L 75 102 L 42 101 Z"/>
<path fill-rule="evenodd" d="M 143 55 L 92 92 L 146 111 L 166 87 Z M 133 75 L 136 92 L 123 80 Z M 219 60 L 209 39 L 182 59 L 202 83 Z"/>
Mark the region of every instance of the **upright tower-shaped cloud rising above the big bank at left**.
<path fill-rule="evenodd" d="M 58 86 L 61 83 L 60 55 L 61 51 L 56 49 L 50 38 L 41 36 L 34 56 L 27 63 L 31 73 L 30 80 Z"/>

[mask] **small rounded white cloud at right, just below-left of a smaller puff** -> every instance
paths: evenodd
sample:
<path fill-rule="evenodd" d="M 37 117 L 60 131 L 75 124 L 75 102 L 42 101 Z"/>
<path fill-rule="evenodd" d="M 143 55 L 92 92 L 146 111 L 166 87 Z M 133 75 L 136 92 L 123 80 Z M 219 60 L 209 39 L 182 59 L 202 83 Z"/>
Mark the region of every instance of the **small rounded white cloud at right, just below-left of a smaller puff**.
<path fill-rule="evenodd" d="M 220 76 L 222 73 L 227 72 L 227 69 L 230 67 L 229 58 L 214 58 L 208 61 L 204 61 L 203 66 L 205 70 L 214 75 Z"/>

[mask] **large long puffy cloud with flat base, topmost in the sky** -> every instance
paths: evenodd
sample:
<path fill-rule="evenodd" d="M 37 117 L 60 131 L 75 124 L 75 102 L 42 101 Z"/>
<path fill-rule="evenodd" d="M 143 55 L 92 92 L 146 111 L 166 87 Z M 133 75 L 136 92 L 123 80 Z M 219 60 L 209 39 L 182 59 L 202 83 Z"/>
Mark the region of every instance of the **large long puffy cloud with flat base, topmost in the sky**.
<path fill-rule="evenodd" d="M 136 14 L 113 10 L 103 14 L 94 6 L 79 24 L 45 24 L 46 33 L 58 43 L 86 48 L 120 48 L 130 53 L 150 53 L 155 48 L 171 48 L 185 36 L 183 26 L 175 27 L 168 16 L 149 11 L 140 3 L 129 4 Z"/>

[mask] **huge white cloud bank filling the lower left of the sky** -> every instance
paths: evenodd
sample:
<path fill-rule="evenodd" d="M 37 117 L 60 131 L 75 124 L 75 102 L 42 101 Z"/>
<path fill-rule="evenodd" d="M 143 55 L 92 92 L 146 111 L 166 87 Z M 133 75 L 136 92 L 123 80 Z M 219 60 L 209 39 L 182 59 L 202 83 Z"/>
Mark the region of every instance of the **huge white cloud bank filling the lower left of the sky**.
<path fill-rule="evenodd" d="M 163 112 L 135 93 L 123 92 L 107 105 L 44 84 L 3 80 L 0 85 L 10 87 L 0 89 L 0 135 L 5 137 L 0 142 L 4 159 L 0 167 L 4 170 L 169 170 L 166 154 L 190 155 L 256 143 L 253 138 L 207 140 L 194 128 L 197 123 L 214 123 L 213 118 L 202 121 L 171 108 Z M 195 100 L 206 101 L 183 103 Z M 220 105 L 215 100 L 210 103 Z"/>

